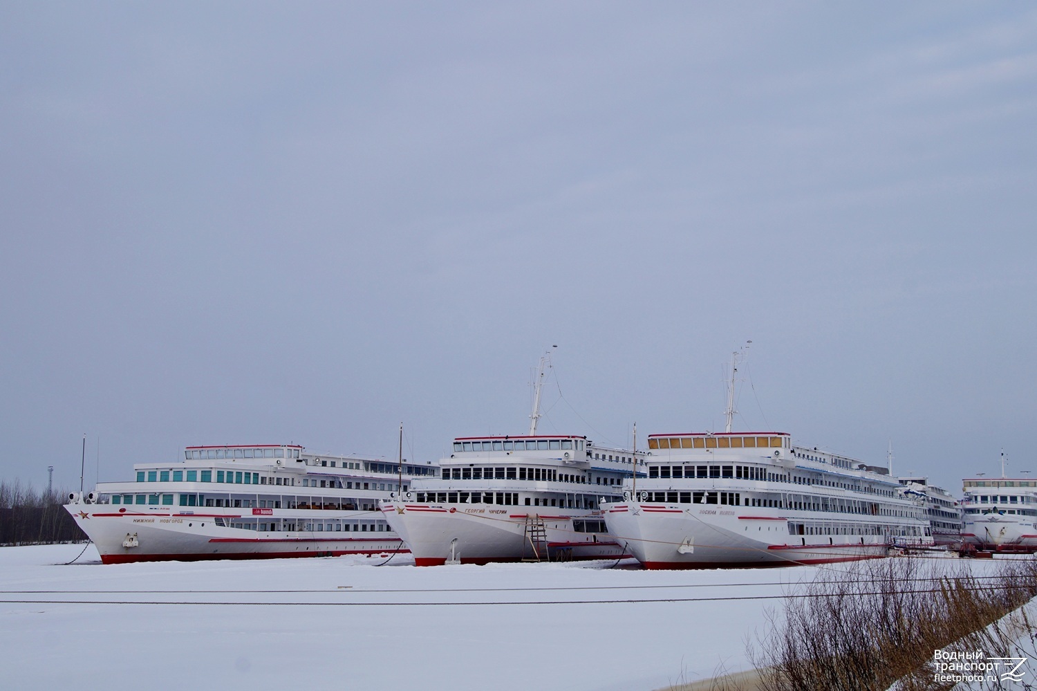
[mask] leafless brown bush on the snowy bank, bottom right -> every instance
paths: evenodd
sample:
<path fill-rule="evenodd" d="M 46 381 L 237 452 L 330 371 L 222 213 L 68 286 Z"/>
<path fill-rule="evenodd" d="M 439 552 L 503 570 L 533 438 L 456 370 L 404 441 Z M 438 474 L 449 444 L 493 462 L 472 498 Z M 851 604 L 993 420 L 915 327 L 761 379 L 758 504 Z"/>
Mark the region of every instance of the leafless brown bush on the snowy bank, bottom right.
<path fill-rule="evenodd" d="M 996 573 L 981 576 L 962 562 L 916 558 L 820 572 L 804 591 L 789 593 L 783 617 L 772 615 L 768 631 L 750 646 L 760 688 L 950 688 L 934 681 L 933 652 L 964 646 L 1002 656 L 1018 631 L 999 620 L 1037 596 L 1033 560 L 996 564 Z"/>

